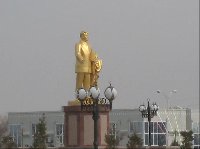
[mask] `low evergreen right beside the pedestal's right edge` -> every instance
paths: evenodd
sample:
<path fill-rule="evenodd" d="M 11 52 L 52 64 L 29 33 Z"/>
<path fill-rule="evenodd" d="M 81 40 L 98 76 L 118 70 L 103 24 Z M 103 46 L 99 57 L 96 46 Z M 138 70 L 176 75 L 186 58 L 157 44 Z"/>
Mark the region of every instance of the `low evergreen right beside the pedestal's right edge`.
<path fill-rule="evenodd" d="M 106 134 L 105 135 L 105 142 L 106 142 L 106 149 L 116 149 L 119 145 L 119 137 L 113 134 Z"/>

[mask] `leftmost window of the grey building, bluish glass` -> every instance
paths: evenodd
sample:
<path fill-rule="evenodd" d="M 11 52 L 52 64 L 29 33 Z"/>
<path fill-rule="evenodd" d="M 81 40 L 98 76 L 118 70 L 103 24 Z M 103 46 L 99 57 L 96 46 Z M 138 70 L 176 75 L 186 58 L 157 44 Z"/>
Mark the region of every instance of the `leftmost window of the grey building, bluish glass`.
<path fill-rule="evenodd" d="M 10 136 L 13 138 L 13 141 L 16 143 L 17 147 L 22 145 L 22 126 L 19 124 L 9 125 Z"/>

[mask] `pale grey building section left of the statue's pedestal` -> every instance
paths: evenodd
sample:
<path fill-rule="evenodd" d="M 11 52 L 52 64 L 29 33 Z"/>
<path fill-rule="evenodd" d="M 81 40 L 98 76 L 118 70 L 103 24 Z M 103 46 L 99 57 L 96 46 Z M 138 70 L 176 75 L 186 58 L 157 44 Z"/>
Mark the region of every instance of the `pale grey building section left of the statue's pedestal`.
<path fill-rule="evenodd" d="M 33 144 L 36 124 L 45 116 L 49 147 L 63 146 L 64 114 L 62 111 L 8 113 L 9 133 L 17 147 L 30 147 Z"/>

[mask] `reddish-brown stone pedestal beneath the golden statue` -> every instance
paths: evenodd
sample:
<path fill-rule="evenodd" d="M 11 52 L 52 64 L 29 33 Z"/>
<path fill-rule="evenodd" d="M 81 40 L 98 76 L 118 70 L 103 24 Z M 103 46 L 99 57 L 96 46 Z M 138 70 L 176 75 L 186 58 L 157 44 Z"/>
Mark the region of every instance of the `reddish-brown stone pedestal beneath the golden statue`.
<path fill-rule="evenodd" d="M 67 148 L 93 148 L 94 121 L 92 112 L 81 111 L 81 106 L 64 106 L 64 144 Z M 105 146 L 105 134 L 109 127 L 109 110 L 99 107 L 98 142 Z"/>

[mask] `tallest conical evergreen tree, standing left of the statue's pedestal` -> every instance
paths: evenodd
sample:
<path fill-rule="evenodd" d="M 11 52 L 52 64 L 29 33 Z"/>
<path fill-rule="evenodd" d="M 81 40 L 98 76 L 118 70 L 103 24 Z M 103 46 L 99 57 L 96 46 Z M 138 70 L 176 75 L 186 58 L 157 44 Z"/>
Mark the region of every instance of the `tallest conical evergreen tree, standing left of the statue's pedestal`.
<path fill-rule="evenodd" d="M 33 142 L 33 148 L 40 148 L 40 149 L 46 149 L 46 122 L 45 122 L 45 116 L 43 114 L 42 118 L 39 119 L 39 123 L 36 125 L 36 133 L 34 134 L 34 142 Z"/>

